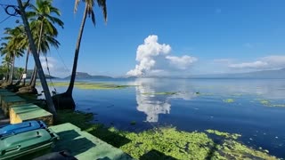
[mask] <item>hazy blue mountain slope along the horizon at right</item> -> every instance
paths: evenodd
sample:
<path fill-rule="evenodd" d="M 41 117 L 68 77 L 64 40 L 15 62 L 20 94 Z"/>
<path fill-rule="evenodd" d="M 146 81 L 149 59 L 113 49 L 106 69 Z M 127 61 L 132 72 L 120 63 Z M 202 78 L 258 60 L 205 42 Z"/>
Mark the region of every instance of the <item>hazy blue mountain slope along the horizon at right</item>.
<path fill-rule="evenodd" d="M 261 70 L 248 73 L 235 73 L 235 74 L 212 74 L 212 75 L 193 75 L 189 78 L 285 78 L 285 68 L 278 70 Z"/>

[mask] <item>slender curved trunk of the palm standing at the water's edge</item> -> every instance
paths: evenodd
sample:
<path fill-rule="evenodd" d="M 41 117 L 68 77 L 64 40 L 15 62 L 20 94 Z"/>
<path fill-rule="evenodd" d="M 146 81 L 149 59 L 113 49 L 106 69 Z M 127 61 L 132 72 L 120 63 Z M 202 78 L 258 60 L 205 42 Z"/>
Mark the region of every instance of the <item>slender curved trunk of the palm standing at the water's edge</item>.
<path fill-rule="evenodd" d="M 75 81 L 75 77 L 77 75 L 77 60 L 78 60 L 78 54 L 79 54 L 79 49 L 80 49 L 80 44 L 81 44 L 81 38 L 82 38 L 83 30 L 85 27 L 85 20 L 86 20 L 86 16 L 87 16 L 87 6 L 88 6 L 87 3 L 85 3 L 85 12 L 83 14 L 83 19 L 82 19 L 80 30 L 79 30 L 79 35 L 77 37 L 77 46 L 76 46 L 76 50 L 75 50 L 75 54 L 74 54 L 73 68 L 72 68 L 72 73 L 71 73 L 71 77 L 70 77 L 69 88 L 66 91 L 66 93 L 69 94 L 70 96 L 72 96 L 74 81 Z"/>

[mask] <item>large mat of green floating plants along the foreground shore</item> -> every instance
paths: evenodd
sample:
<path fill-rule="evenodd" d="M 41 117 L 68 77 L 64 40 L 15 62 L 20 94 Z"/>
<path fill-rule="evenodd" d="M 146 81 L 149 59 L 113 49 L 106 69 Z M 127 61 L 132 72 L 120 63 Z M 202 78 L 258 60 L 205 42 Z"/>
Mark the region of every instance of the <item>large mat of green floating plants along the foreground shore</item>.
<path fill-rule="evenodd" d="M 156 128 L 144 132 L 123 132 L 102 124 L 91 124 L 93 114 L 58 111 L 57 123 L 71 123 L 140 159 L 277 159 L 262 148 L 248 148 L 238 141 L 240 134 L 207 130 L 182 132 Z M 72 117 L 72 118 L 70 118 Z M 217 136 L 217 142 L 211 136 Z M 147 156 L 146 156 L 147 155 Z"/>

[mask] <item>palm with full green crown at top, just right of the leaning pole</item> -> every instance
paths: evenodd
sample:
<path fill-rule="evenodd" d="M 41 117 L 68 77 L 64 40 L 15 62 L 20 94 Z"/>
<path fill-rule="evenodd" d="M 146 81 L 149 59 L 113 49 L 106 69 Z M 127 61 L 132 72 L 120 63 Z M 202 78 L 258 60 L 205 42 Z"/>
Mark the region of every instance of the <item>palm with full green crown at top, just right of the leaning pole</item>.
<path fill-rule="evenodd" d="M 59 42 L 54 38 L 58 35 L 57 29 L 53 24 L 59 25 L 63 28 L 63 22 L 52 14 L 61 16 L 59 9 L 53 7 L 53 0 L 37 0 L 36 5 L 29 4 L 28 7 L 32 10 L 27 12 L 26 15 L 31 21 L 30 26 L 34 32 L 33 36 L 37 44 L 37 54 L 40 52 L 46 54 L 49 51 L 49 44 L 54 47 L 59 46 Z M 38 28 L 39 26 L 39 28 Z M 31 78 L 30 87 L 35 88 L 37 80 L 37 68 L 34 69 L 34 74 Z"/>

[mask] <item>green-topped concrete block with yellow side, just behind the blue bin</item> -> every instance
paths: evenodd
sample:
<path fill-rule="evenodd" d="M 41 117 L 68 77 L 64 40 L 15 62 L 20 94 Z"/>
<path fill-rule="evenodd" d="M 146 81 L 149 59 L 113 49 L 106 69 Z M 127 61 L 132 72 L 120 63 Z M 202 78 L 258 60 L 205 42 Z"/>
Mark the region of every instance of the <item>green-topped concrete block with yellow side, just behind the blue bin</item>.
<path fill-rule="evenodd" d="M 35 104 L 12 105 L 10 108 L 10 123 L 18 124 L 28 120 L 42 120 L 47 125 L 53 124 L 53 114 Z"/>

